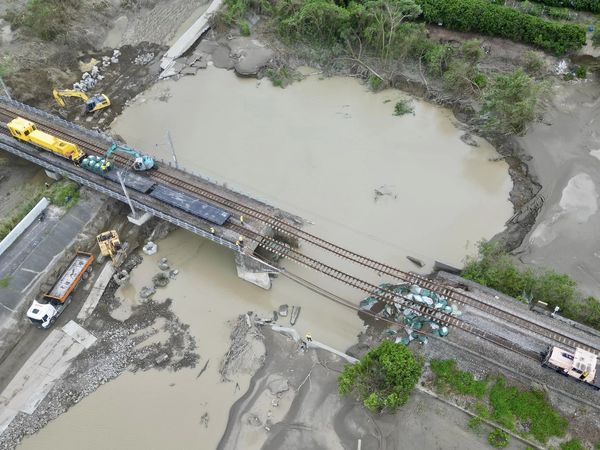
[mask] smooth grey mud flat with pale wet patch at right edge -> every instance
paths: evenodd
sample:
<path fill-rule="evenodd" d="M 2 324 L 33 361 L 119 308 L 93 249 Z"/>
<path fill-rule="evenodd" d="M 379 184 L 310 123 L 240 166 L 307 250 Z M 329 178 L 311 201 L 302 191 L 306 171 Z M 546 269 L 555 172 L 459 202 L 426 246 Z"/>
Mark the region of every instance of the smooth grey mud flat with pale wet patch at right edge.
<path fill-rule="evenodd" d="M 520 258 L 571 275 L 600 296 L 600 93 L 594 80 L 560 89 L 543 123 L 520 139 L 533 158 L 545 204 L 521 246 Z"/>

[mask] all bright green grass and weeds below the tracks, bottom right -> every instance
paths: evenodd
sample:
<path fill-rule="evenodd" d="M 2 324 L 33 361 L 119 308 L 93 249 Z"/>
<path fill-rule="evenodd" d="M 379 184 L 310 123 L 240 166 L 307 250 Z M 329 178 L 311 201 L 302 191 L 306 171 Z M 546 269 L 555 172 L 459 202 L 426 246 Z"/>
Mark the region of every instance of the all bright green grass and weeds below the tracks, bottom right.
<path fill-rule="evenodd" d="M 454 360 L 434 359 L 430 369 L 434 386 L 440 394 L 458 394 L 471 399 L 476 415 L 467 425 L 474 431 L 480 431 L 484 420 L 487 420 L 542 444 L 553 436 L 563 437 L 567 433 L 567 419 L 552 407 L 541 390 L 511 386 L 502 376 L 476 380 L 472 373 L 458 369 Z M 504 432 L 492 430 L 488 436 L 490 444 L 493 441 L 499 448 L 505 446 L 502 445 L 505 439 L 501 439 L 504 436 L 501 433 Z M 508 438 L 508 435 L 504 437 Z"/>

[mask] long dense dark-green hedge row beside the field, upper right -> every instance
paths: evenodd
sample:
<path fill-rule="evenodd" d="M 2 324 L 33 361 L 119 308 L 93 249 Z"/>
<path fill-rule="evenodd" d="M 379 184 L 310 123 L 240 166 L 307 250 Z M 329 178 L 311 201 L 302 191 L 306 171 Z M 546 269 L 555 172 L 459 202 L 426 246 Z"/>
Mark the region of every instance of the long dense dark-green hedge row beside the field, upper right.
<path fill-rule="evenodd" d="M 487 0 L 418 0 L 426 22 L 536 45 L 556 54 L 585 45 L 585 28 L 551 22 Z"/>

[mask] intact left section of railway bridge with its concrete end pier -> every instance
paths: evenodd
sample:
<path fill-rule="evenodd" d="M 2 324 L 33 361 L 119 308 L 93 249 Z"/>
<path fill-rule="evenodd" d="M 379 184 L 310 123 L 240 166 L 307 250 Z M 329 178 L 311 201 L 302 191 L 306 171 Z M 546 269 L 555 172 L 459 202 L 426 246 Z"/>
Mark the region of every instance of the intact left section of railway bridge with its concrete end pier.
<path fill-rule="evenodd" d="M 86 155 L 103 157 L 115 143 L 105 134 L 0 97 L 0 150 L 41 166 L 53 177 L 69 178 L 129 204 L 135 211 L 130 217 L 133 223 L 141 225 L 147 217 L 157 217 L 227 247 L 234 252 L 240 278 L 263 289 L 271 287 L 270 274 L 278 269 L 262 262 L 255 256 L 255 250 L 263 238 L 272 238 L 274 234 L 269 218 L 297 222 L 297 217 L 161 162 L 152 170 L 133 173 L 128 170 L 131 159 L 119 155 L 113 161 L 115 169 L 99 175 L 15 139 L 6 124 L 16 117 L 30 120 L 39 130 L 76 144 Z"/>

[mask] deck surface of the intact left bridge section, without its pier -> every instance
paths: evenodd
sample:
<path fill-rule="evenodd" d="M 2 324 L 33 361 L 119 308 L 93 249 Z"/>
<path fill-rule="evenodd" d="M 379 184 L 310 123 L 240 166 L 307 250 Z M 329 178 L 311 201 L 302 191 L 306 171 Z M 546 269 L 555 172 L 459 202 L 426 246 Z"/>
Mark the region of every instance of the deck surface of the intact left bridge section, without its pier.
<path fill-rule="evenodd" d="M 15 140 L 12 136 L 10 136 L 4 124 L 17 116 L 31 120 L 32 122 L 38 124 L 38 127 L 42 130 L 50 133 L 54 131 L 55 133 L 63 134 L 61 137 L 65 139 L 67 137 L 71 138 L 78 145 L 80 145 L 84 151 L 89 152 L 90 154 L 93 154 L 94 152 L 101 153 L 103 149 L 108 149 L 114 142 L 112 138 L 96 131 L 88 130 L 81 126 L 75 125 L 71 122 L 67 122 L 60 117 L 53 116 L 45 111 L 32 108 L 28 105 L 10 100 L 6 97 L 0 97 L 0 149 L 28 159 L 29 161 L 38 164 L 47 170 L 57 172 L 63 176 L 73 179 L 80 184 L 84 184 L 92 189 L 103 192 L 104 194 L 107 194 L 113 198 L 117 198 L 121 201 L 126 200 L 120 183 L 118 182 L 114 172 L 109 177 L 104 177 L 85 170 L 82 167 L 77 167 L 70 161 L 53 155 L 50 152 Z M 147 192 L 148 189 L 140 189 L 142 192 L 136 192 L 134 189 L 128 189 L 128 194 L 132 200 L 132 203 L 134 204 L 134 207 L 149 212 L 154 216 L 158 216 L 203 237 L 211 239 L 220 245 L 231 248 L 232 250 L 238 250 L 238 247 L 235 243 L 239 238 L 238 231 L 240 225 L 243 225 L 253 232 L 263 236 L 271 235 L 272 230 L 268 225 L 265 225 L 264 222 L 254 220 L 252 217 L 245 216 L 242 223 L 239 212 L 227 207 L 227 200 L 243 203 L 246 207 L 260 211 L 263 214 L 269 214 L 294 221 L 298 220 L 297 217 L 285 211 L 267 205 L 266 203 L 249 197 L 245 194 L 235 192 L 225 186 L 218 185 L 206 178 L 188 173 L 184 170 L 175 169 L 174 167 L 170 167 L 169 164 L 158 162 L 157 165 L 158 169 L 153 170 L 150 173 L 136 174 L 137 176 L 145 179 L 138 180 L 138 185 L 144 185 L 146 188 L 153 184 L 157 187 L 159 185 L 163 185 L 170 189 L 178 190 L 184 193 L 186 196 L 197 197 L 208 205 L 212 205 L 224 210 L 225 212 L 231 214 L 231 217 L 222 225 L 218 225 L 219 221 L 209 222 L 207 220 L 203 220 L 186 211 L 171 206 L 167 202 L 161 201 L 160 195 L 156 196 L 158 198 L 154 198 L 146 193 L 143 193 L 143 191 Z M 139 184 L 139 182 L 141 182 L 141 184 Z M 194 191 L 198 192 L 199 194 L 190 192 L 190 186 L 193 187 Z M 162 191 L 162 189 L 159 189 L 159 191 Z M 208 197 L 204 197 L 202 193 L 207 193 Z M 212 203 L 210 200 L 211 198 L 217 199 L 217 201 Z M 219 201 L 223 201 L 223 199 L 225 202 L 219 203 Z M 193 208 L 191 210 L 195 211 Z M 211 232 L 211 228 L 215 230 L 214 233 Z M 235 229 L 238 231 L 235 231 Z M 256 249 L 257 245 L 258 242 L 256 241 L 246 240 L 244 242 L 243 252 L 252 253 Z"/>

